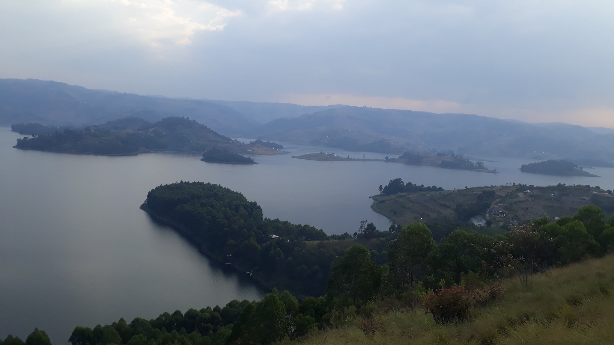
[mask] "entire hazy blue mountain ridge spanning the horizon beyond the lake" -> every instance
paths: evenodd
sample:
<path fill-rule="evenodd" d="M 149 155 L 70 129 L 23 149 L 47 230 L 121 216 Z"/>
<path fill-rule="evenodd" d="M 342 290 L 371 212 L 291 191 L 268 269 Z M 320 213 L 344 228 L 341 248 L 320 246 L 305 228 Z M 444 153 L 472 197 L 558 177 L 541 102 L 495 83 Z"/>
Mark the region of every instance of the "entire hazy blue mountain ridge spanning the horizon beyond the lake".
<path fill-rule="evenodd" d="M 313 110 L 318 111 L 305 114 Z M 385 139 L 391 147 L 386 153 L 452 149 L 468 155 L 614 161 L 614 129 L 608 128 L 342 105 L 140 96 L 52 81 L 0 79 L 0 124 L 84 126 L 123 117 L 156 122 L 171 116 L 193 118 L 227 136 L 354 150 Z M 262 124 L 273 117 L 279 118 Z"/>

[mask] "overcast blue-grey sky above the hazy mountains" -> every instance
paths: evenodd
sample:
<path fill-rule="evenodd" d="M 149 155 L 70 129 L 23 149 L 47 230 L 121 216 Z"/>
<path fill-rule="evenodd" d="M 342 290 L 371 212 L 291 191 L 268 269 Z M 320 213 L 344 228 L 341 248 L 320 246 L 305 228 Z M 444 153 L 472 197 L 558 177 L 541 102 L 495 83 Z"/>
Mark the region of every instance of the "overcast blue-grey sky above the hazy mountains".
<path fill-rule="evenodd" d="M 614 127 L 614 1 L 1 0 L 0 77 Z"/>

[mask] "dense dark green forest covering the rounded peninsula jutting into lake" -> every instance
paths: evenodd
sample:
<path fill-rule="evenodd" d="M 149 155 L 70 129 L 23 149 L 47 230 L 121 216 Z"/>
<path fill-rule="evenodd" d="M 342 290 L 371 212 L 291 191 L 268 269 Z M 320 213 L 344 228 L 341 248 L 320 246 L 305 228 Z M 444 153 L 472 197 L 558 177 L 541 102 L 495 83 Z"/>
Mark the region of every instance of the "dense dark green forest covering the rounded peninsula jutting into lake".
<path fill-rule="evenodd" d="M 145 206 L 184 229 L 209 256 L 251 271 L 269 289 L 282 287 L 303 296 L 324 294 L 330 263 L 340 252 L 308 243 L 328 239 L 324 231 L 263 218 L 257 203 L 219 185 L 161 185 L 147 194 Z"/>

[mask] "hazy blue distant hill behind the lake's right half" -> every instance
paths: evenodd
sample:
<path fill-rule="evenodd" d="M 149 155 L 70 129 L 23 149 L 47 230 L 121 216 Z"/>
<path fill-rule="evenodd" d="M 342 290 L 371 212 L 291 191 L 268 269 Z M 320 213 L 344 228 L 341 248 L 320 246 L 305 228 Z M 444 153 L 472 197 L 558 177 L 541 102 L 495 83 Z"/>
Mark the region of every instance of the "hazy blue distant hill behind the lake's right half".
<path fill-rule="evenodd" d="M 596 134 L 575 125 L 533 125 L 469 114 L 342 107 L 278 118 L 258 126 L 252 136 L 350 150 L 385 139 L 406 148 L 451 149 L 465 155 L 614 161 L 614 134 Z M 344 142 L 350 144 L 338 144 Z"/>

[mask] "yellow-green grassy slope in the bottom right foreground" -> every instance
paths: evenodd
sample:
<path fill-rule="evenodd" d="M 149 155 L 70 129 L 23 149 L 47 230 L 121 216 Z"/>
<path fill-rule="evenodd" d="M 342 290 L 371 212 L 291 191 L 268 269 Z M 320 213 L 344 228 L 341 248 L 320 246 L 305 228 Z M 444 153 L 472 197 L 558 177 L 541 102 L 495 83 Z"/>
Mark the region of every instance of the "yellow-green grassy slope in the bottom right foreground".
<path fill-rule="evenodd" d="M 301 344 L 614 344 L 614 255 L 534 276 L 532 287 L 503 284 L 503 300 L 472 319 L 437 325 L 420 308 L 378 314 L 383 330 L 365 335 L 360 320 L 319 331 Z"/>

